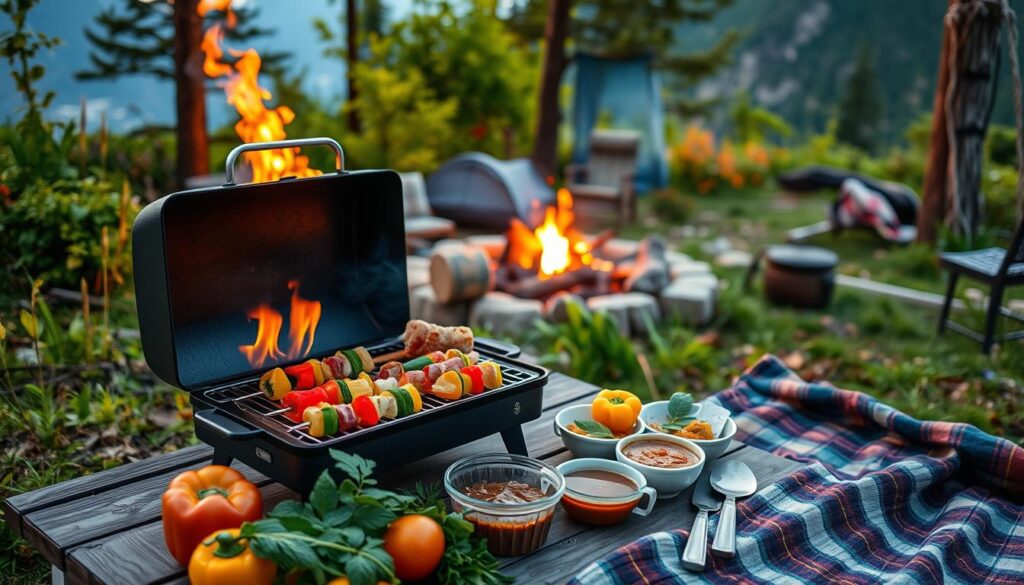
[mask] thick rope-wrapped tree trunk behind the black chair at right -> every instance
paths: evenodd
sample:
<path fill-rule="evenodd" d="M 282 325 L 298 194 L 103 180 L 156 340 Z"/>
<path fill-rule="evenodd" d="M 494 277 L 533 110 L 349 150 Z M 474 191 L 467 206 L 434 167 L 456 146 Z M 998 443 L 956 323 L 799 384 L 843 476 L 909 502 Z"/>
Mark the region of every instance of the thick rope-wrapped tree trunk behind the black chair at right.
<path fill-rule="evenodd" d="M 977 3 L 976 6 L 971 4 Z M 953 0 L 949 1 L 953 4 Z M 999 49 L 1001 14 L 980 0 L 962 2 L 965 9 L 956 27 L 955 54 L 949 27 L 945 27 L 939 80 L 935 91 L 932 138 L 925 172 L 924 196 L 918 216 L 918 241 L 935 243 L 940 222 L 955 233 L 972 238 L 981 222 L 984 200 L 981 194 L 981 165 L 988 112 L 996 80 L 993 65 Z M 974 12 L 973 15 L 972 11 Z M 950 59 L 955 59 L 955 84 L 949 86 Z M 949 95 L 949 90 L 952 95 Z M 949 168 L 949 130 L 946 105 L 951 106 L 955 167 Z M 952 175 L 950 177 L 950 175 Z M 955 186 L 952 205 L 949 186 Z"/>

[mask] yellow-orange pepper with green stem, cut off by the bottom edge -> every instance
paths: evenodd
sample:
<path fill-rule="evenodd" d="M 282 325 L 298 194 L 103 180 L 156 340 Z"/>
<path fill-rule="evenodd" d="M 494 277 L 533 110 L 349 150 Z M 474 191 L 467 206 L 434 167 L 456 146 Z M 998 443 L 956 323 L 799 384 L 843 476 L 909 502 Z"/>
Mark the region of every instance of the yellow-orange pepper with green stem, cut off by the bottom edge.
<path fill-rule="evenodd" d="M 278 567 L 253 554 L 239 529 L 211 534 L 193 552 L 188 579 L 193 585 L 271 585 Z"/>

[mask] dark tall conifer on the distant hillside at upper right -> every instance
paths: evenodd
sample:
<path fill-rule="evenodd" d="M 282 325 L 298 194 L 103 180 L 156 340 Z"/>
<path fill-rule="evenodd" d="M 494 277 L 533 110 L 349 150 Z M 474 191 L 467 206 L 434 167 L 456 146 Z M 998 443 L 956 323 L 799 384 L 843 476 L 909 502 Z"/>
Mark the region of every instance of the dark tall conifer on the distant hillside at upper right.
<path fill-rule="evenodd" d="M 873 152 L 882 130 L 882 92 L 871 49 L 864 45 L 857 55 L 846 91 L 839 103 L 836 139 Z"/>

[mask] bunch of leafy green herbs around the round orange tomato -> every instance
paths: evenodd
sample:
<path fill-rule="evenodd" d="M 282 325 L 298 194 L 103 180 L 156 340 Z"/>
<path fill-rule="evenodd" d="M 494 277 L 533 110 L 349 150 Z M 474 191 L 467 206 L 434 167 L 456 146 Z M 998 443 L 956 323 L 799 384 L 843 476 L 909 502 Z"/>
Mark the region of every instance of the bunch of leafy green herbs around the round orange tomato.
<path fill-rule="evenodd" d="M 273 560 L 283 572 L 297 570 L 299 584 L 322 585 L 346 576 L 351 585 L 373 585 L 395 581 L 394 561 L 384 550 L 388 525 L 402 514 L 424 514 L 444 531 L 444 556 L 436 573 L 440 585 L 511 582 L 486 543 L 472 536 L 473 525 L 449 513 L 436 490 L 382 490 L 373 477 L 373 461 L 340 451 L 331 457 L 345 479 L 337 483 L 325 470 L 308 502 L 278 504 L 265 519 L 243 525 L 237 540 L 248 539 L 254 554 Z"/>

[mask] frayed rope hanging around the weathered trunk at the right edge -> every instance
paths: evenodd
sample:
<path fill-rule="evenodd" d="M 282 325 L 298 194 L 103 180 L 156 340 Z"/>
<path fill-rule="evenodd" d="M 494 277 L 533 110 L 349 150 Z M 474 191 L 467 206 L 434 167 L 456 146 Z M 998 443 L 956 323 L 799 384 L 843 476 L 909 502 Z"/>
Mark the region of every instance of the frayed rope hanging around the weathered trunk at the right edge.
<path fill-rule="evenodd" d="M 957 173 L 957 141 L 956 141 L 956 121 L 953 117 L 953 98 L 956 93 L 956 86 L 959 80 L 959 31 L 971 31 L 975 20 L 979 17 L 989 17 L 994 10 L 994 14 L 1001 19 L 1007 27 L 1007 52 L 1010 55 L 1010 66 L 1014 82 L 1014 115 L 1017 125 L 1017 217 L 1020 220 L 1024 217 L 1024 109 L 1021 105 L 1021 76 L 1020 62 L 1017 55 L 1017 13 L 1010 7 L 1008 0 L 973 0 L 965 2 L 953 2 L 946 12 L 945 26 L 949 31 L 949 82 L 946 86 L 945 100 L 943 109 L 946 116 L 946 140 L 949 144 L 949 155 L 946 161 L 946 223 L 953 221 L 958 223 L 962 233 L 970 229 L 969 218 L 961 213 L 961 190 Z M 996 31 L 997 34 L 997 31 Z M 998 41 L 996 40 L 996 50 Z M 977 72 L 970 72 L 977 74 Z M 997 83 L 992 79 L 991 83 Z M 994 97 L 995 88 L 992 88 Z M 981 130 L 984 130 L 983 128 Z"/>

